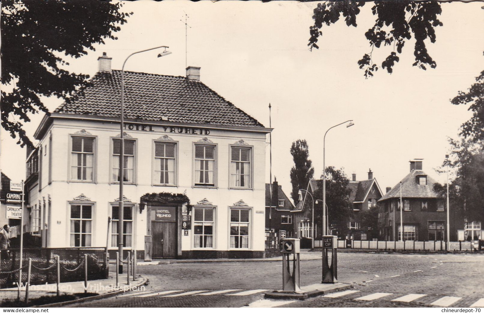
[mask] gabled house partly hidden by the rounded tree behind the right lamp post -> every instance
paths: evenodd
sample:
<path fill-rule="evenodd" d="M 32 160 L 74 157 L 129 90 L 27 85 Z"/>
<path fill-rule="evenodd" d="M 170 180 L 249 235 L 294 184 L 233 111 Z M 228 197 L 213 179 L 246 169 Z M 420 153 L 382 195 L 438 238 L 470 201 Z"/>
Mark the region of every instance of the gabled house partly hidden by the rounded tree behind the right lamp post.
<path fill-rule="evenodd" d="M 316 194 L 320 186 L 322 186 L 322 180 L 311 179 L 306 188 L 313 195 L 315 202 L 318 200 L 316 199 Z M 350 189 L 348 202 L 351 203 L 354 214 L 348 222 L 348 228 L 343 230 L 338 236 L 341 238 L 353 237 L 356 240 L 371 240 L 373 238 L 368 234 L 368 229 L 361 228 L 361 213 L 372 207 L 376 207 L 378 199 L 383 194 L 378 186 L 377 179 L 373 177 L 371 169 L 368 171 L 368 179 L 362 181 L 357 181 L 356 174 L 352 174 L 352 179 L 348 182 L 348 188 Z M 296 205 L 294 210 L 295 234 L 297 238 L 310 237 L 312 226 L 312 199 L 305 191 L 302 191 L 300 199 L 301 201 Z M 318 204 L 315 204 L 315 210 L 320 210 L 321 205 L 322 201 L 318 201 Z M 329 230 L 331 231 L 331 207 L 328 208 L 327 215 Z M 315 225 L 315 230 L 317 234 L 316 238 L 320 238 L 321 227 Z"/>

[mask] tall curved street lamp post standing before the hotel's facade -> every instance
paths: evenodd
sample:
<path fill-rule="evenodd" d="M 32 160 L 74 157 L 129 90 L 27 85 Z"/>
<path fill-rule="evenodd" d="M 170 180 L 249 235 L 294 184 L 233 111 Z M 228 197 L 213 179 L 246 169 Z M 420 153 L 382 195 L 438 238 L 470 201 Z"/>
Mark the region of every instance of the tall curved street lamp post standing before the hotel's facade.
<path fill-rule="evenodd" d="M 123 199 L 123 183 L 124 183 L 124 65 L 126 65 L 126 62 L 128 59 L 141 52 L 146 52 L 158 48 L 165 48 L 165 51 L 162 53 L 158 54 L 158 57 L 163 57 L 165 55 L 170 54 L 170 51 L 167 51 L 166 48 L 167 46 L 159 46 L 159 47 L 154 47 L 150 49 L 145 49 L 137 52 L 131 53 L 125 60 L 124 63 L 122 63 L 122 68 L 121 68 L 121 138 L 120 138 L 120 169 L 119 169 L 119 182 L 120 182 L 120 198 L 119 198 L 119 204 L 118 204 L 118 252 L 119 252 L 119 257 L 123 258 L 123 233 L 124 233 L 124 199 Z M 136 257 L 136 256 L 135 256 Z M 118 267 L 118 272 L 122 274 L 122 262 L 119 262 L 119 267 Z"/>

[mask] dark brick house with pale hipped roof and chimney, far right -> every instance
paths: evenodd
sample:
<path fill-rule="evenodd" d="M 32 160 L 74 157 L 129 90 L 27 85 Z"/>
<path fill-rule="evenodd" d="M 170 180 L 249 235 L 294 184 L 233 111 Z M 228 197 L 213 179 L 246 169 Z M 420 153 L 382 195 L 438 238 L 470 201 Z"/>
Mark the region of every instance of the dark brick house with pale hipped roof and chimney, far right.
<path fill-rule="evenodd" d="M 422 162 L 422 159 L 411 160 L 407 176 L 393 188 L 387 188 L 386 194 L 378 200 L 380 240 L 401 240 L 400 189 L 403 203 L 403 239 L 446 238 L 445 199 L 434 192 L 436 181 L 423 172 Z"/>

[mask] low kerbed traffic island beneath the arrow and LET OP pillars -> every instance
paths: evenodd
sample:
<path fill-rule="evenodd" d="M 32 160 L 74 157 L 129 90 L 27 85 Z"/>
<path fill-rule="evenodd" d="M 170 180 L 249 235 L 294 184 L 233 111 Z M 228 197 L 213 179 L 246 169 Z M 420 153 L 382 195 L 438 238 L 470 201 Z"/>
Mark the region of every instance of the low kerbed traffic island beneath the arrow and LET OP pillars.
<path fill-rule="evenodd" d="M 352 285 L 349 283 L 337 282 L 332 284 L 315 283 L 308 286 L 302 286 L 300 291 L 283 291 L 274 290 L 268 292 L 264 297 L 269 299 L 306 299 L 308 297 L 317 297 L 326 295 L 337 291 L 351 289 Z"/>

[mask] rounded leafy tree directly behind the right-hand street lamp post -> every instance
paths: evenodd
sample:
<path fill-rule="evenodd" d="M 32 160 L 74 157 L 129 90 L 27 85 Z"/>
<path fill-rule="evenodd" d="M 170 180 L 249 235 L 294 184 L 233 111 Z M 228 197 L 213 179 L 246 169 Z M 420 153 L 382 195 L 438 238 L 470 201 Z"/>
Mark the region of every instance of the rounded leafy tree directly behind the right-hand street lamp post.
<path fill-rule="evenodd" d="M 348 229 L 348 222 L 352 216 L 351 203 L 348 201 L 351 189 L 349 179 L 343 169 L 335 169 L 334 166 L 326 168 L 326 204 L 328 205 L 328 223 L 336 229 L 338 235 Z M 315 199 L 323 199 L 323 180 L 318 181 L 318 191 Z M 322 203 L 318 203 L 315 212 L 315 223 L 318 227 L 322 222 Z"/>

